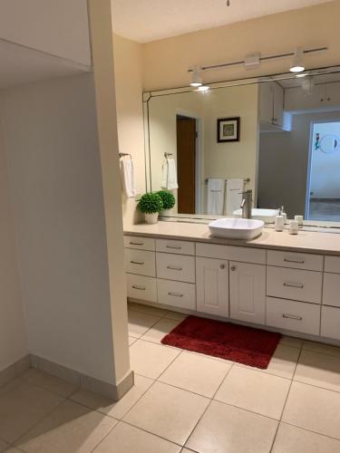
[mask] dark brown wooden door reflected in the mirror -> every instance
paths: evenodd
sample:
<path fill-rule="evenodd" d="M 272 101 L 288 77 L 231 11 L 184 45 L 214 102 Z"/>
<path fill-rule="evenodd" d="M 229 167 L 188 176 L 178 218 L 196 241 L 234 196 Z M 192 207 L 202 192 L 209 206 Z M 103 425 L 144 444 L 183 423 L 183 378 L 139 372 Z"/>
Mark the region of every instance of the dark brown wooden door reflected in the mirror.
<path fill-rule="evenodd" d="M 196 120 L 177 117 L 177 177 L 179 214 L 195 214 Z"/>

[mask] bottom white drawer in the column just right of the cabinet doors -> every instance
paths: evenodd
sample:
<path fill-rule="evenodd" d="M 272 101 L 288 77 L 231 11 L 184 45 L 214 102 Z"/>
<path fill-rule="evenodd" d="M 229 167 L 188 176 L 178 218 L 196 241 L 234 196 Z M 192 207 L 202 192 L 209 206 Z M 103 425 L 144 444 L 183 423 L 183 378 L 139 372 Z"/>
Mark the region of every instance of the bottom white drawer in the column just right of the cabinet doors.
<path fill-rule="evenodd" d="M 318 335 L 320 306 L 267 297 L 267 325 Z"/>

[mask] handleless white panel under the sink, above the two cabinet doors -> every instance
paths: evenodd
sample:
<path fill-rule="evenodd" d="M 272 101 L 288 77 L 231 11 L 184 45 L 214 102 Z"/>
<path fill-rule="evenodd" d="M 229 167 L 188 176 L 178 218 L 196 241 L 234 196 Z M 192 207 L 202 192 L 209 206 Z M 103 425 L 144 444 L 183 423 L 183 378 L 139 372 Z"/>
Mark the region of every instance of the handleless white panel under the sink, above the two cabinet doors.
<path fill-rule="evenodd" d="M 218 246 L 216 244 L 196 243 L 196 255 L 206 258 L 217 258 L 239 261 L 256 265 L 266 265 L 266 250 L 241 246 Z"/>

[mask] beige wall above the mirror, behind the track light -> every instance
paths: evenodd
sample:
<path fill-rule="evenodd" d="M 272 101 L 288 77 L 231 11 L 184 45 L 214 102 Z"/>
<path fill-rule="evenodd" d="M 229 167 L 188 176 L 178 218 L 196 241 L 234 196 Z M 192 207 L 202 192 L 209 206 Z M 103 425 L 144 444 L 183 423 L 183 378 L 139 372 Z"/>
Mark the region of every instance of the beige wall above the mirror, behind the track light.
<path fill-rule="evenodd" d="M 339 17 L 340 1 L 336 0 L 143 44 L 144 90 L 188 85 L 188 68 L 195 64 L 238 61 L 247 53 L 281 53 L 296 46 L 329 46 L 326 53 L 307 57 L 307 67 L 339 64 Z M 204 80 L 219 82 L 287 72 L 288 64 L 287 59 L 283 59 L 262 63 L 257 71 L 247 71 L 243 67 L 211 71 L 204 74 Z"/>

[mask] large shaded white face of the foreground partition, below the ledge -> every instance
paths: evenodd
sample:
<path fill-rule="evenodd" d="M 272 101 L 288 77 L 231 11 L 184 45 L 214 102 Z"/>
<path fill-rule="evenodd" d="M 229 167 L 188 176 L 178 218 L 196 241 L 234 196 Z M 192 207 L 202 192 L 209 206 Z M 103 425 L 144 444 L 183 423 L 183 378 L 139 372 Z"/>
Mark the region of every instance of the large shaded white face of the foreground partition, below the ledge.
<path fill-rule="evenodd" d="M 30 352 L 114 383 L 92 75 L 8 90 L 1 119 Z"/>

